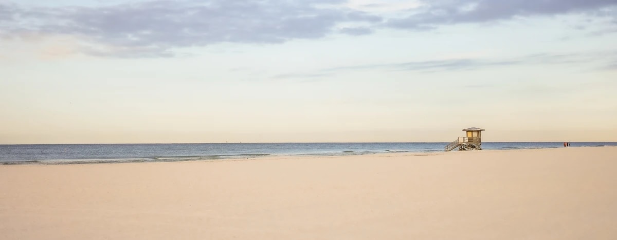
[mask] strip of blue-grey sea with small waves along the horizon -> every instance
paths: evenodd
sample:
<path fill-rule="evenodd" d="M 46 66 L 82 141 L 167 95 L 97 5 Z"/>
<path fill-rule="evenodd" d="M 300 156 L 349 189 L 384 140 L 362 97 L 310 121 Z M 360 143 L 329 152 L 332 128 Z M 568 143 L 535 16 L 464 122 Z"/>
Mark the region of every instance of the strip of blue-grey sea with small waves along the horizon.
<path fill-rule="evenodd" d="M 196 161 L 263 156 L 337 156 L 444 151 L 448 143 L 160 143 L 0 145 L 0 164 Z M 617 146 L 617 142 L 570 143 Z M 561 142 L 484 142 L 484 150 L 560 148 Z M 456 150 L 455 150 L 456 151 Z"/>

